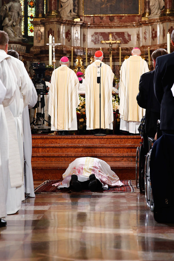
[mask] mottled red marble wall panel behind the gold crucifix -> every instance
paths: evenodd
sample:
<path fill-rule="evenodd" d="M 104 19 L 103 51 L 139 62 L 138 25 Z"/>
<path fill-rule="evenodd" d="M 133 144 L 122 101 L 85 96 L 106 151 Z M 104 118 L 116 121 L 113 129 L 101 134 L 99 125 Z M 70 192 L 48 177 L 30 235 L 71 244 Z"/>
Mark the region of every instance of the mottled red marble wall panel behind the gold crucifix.
<path fill-rule="evenodd" d="M 91 41 L 94 44 L 101 44 L 101 41 L 109 39 L 110 32 L 94 32 L 91 35 Z M 131 41 L 131 35 L 128 32 L 112 32 L 113 41 L 121 41 L 121 44 L 128 44 Z"/>

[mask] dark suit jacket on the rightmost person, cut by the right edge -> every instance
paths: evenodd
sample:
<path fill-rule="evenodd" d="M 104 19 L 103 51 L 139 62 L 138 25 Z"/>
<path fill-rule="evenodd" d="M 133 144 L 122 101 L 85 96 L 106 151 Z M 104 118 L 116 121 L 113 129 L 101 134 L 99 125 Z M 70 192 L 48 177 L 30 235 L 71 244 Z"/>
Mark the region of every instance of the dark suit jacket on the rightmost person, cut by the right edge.
<path fill-rule="evenodd" d="M 174 82 L 174 52 L 156 60 L 154 91 L 161 104 L 161 130 L 174 130 L 174 97 L 171 87 Z"/>

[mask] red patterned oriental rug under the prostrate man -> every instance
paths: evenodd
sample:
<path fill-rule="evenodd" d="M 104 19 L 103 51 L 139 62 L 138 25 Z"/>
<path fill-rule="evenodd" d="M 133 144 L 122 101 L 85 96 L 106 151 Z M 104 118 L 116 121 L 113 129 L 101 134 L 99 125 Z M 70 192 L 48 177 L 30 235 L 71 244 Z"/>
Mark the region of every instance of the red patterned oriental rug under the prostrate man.
<path fill-rule="evenodd" d="M 62 180 L 46 180 L 41 185 L 39 185 L 37 188 L 34 189 L 35 193 L 70 193 L 70 192 L 76 192 L 76 193 L 132 193 L 135 192 L 134 187 L 132 186 L 131 180 L 121 180 L 121 182 L 125 185 L 122 187 L 113 187 L 109 188 L 108 190 L 98 190 L 95 192 L 91 192 L 90 190 L 82 190 L 80 192 L 77 192 L 70 188 L 61 188 L 58 189 L 58 187 L 52 186 L 52 184 L 55 184 L 57 182 L 61 182 Z"/>

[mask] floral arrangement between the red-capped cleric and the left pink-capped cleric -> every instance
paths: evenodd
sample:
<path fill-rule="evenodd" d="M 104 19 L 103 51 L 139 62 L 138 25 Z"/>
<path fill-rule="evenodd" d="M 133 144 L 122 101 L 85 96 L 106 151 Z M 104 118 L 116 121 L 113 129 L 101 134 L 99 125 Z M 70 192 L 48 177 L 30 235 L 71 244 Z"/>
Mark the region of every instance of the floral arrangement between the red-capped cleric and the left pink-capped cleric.
<path fill-rule="evenodd" d="M 76 109 L 76 112 L 80 114 L 79 119 L 79 129 L 86 131 L 86 106 L 85 106 L 85 98 L 81 97 L 79 94 L 80 104 Z"/>

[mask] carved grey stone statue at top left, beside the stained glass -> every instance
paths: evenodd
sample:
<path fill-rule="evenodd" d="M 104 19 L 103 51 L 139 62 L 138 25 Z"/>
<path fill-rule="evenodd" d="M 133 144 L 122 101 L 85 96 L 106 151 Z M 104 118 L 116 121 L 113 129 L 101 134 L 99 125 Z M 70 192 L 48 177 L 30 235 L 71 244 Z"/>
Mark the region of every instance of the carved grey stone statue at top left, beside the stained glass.
<path fill-rule="evenodd" d="M 10 0 L 8 4 L 4 4 L 1 8 L 1 15 L 4 17 L 3 30 L 8 33 L 10 41 L 21 41 L 23 39 L 21 33 L 22 10 L 19 0 Z"/>

